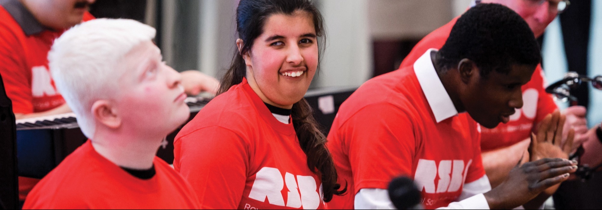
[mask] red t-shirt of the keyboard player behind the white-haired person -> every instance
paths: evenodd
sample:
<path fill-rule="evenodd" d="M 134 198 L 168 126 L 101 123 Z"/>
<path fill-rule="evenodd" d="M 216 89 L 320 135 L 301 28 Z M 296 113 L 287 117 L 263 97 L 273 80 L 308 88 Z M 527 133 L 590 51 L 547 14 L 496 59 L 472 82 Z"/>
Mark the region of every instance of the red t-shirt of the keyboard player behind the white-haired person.
<path fill-rule="evenodd" d="M 94 17 L 84 14 L 84 21 Z M 65 30 L 26 35 L 19 23 L 0 6 L 0 74 L 14 113 L 36 113 L 65 103 L 48 70 L 48 52 Z"/>

